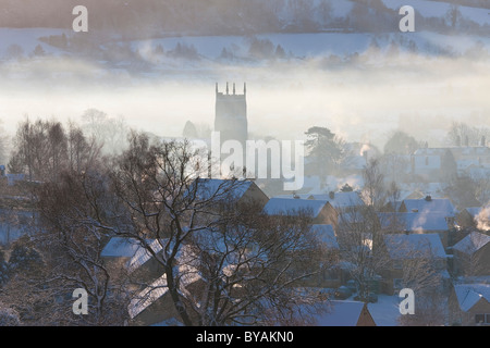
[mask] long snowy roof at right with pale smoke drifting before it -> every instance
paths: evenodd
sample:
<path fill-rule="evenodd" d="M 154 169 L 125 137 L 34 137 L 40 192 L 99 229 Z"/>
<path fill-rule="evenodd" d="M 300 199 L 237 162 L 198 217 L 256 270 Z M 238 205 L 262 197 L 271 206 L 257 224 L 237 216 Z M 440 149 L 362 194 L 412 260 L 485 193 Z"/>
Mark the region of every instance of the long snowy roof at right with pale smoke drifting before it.
<path fill-rule="evenodd" d="M 443 213 L 378 213 L 382 228 L 397 228 L 411 232 L 448 231 Z"/>

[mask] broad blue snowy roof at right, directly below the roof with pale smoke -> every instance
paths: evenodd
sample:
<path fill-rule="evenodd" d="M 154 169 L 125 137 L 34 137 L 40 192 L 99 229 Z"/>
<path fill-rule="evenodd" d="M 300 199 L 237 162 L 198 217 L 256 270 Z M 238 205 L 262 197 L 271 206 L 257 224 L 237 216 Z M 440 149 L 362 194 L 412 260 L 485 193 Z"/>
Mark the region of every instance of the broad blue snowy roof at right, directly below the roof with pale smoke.
<path fill-rule="evenodd" d="M 384 236 L 384 245 L 391 259 L 445 258 L 444 247 L 438 234 L 392 234 Z"/>

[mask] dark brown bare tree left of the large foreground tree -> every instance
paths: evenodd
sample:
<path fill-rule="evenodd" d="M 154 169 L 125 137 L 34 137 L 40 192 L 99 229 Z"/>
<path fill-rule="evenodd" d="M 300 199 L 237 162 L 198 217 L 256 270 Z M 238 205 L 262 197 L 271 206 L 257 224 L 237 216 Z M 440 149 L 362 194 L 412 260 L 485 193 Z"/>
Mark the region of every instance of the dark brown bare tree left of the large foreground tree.
<path fill-rule="evenodd" d="M 89 296 L 90 315 L 74 315 L 70 298 L 54 304 L 52 320 L 65 325 L 122 325 L 127 318 L 128 295 L 121 283 L 127 278 L 113 278 L 108 271 L 101 251 L 110 236 L 98 227 L 118 219 L 112 215 L 108 175 L 94 167 L 83 173 L 65 172 L 36 194 L 42 232 L 35 240 L 47 262 L 42 284 L 51 296 L 63 299 L 76 288 Z"/>

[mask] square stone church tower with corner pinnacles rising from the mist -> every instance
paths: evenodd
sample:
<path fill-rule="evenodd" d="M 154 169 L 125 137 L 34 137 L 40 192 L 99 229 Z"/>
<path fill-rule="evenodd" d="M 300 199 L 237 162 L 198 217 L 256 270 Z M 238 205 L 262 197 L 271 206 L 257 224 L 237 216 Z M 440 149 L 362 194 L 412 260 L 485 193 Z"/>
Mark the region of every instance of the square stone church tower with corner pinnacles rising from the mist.
<path fill-rule="evenodd" d="M 247 87 L 244 84 L 243 95 L 237 95 L 235 84 L 230 92 L 226 83 L 226 91 L 220 92 L 216 84 L 216 117 L 215 132 L 220 132 L 221 144 L 226 140 L 237 140 L 244 148 L 248 139 L 247 122 Z"/>

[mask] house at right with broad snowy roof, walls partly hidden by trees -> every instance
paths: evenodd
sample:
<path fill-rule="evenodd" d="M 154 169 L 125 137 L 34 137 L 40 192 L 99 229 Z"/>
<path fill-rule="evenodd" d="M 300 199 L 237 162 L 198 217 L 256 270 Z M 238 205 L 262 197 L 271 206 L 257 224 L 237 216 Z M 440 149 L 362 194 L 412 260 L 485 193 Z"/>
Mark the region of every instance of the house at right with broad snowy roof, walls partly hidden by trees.
<path fill-rule="evenodd" d="M 388 234 L 383 238 L 389 258 L 382 272 L 381 287 L 388 295 L 394 295 L 405 287 L 403 274 L 406 268 L 424 268 L 425 262 L 434 266 L 441 276 L 441 288 L 449 279 L 446 253 L 438 234 Z"/>

